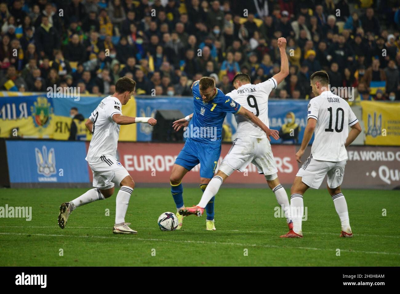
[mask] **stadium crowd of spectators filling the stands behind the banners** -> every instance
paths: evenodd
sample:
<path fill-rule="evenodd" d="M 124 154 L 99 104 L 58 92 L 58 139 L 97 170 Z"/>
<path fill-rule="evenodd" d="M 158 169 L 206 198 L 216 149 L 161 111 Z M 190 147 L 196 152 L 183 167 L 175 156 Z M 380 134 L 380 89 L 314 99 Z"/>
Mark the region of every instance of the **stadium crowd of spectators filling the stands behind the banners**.
<path fill-rule="evenodd" d="M 270 97 L 313 97 L 322 69 L 356 102 L 400 100 L 398 0 L 10 0 L 0 19 L 3 91 L 104 95 L 126 75 L 136 95 L 183 96 L 206 75 L 226 93 L 238 72 L 279 72 L 285 37 L 290 75 Z"/>

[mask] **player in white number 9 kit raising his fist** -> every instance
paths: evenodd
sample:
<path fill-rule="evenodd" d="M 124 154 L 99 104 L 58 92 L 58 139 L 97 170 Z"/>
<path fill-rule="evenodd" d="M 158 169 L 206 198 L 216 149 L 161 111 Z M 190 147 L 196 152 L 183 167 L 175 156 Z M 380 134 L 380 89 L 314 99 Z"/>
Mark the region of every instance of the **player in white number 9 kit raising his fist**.
<path fill-rule="evenodd" d="M 252 85 L 248 74 L 239 73 L 233 78 L 234 91 L 226 94 L 240 103 L 242 107 L 252 111 L 265 125 L 268 124 L 268 96 L 272 89 L 285 79 L 289 74 L 288 58 L 286 56 L 286 39 L 278 39 L 278 47 L 280 49 L 281 70 L 272 78 Z M 211 179 L 206 190 L 203 193 L 200 203 L 195 207 L 185 207 L 180 210 L 182 215 L 196 214 L 201 216 L 204 207 L 208 201 L 214 197 L 222 185 L 222 183 L 235 171 L 245 171 L 249 163 L 253 163 L 258 173 L 264 174 L 268 186 L 275 193 L 276 200 L 284 210 L 289 229 L 293 228 L 292 219 L 290 217 L 290 205 L 288 195 L 285 189 L 279 183 L 274 160 L 272 154 L 270 139 L 267 135 L 257 127 L 252 121 L 246 117 L 235 115 L 238 123 L 237 137 L 232 147 L 219 167 L 218 172 Z"/>

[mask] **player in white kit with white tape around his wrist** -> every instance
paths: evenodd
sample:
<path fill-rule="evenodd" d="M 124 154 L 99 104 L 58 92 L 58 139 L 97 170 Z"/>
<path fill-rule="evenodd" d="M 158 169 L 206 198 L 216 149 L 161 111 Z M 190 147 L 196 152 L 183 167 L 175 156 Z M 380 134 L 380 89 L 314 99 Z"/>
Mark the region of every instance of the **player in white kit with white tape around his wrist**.
<path fill-rule="evenodd" d="M 114 193 L 114 184 L 120 186 L 116 197 L 115 224 L 112 232 L 116 234 L 137 234 L 125 222 L 130 195 L 135 183 L 128 171 L 116 159 L 120 125 L 148 123 L 154 126 L 152 117 L 129 117 L 122 115 L 122 105 L 128 103 L 133 95 L 136 82 L 129 77 L 121 77 L 115 84 L 115 93 L 104 98 L 90 115 L 85 125 L 92 132 L 86 161 L 92 169 L 93 187 L 78 198 L 64 202 L 60 206 L 58 225 L 65 228 L 70 213 L 87 203 L 104 200 Z"/>

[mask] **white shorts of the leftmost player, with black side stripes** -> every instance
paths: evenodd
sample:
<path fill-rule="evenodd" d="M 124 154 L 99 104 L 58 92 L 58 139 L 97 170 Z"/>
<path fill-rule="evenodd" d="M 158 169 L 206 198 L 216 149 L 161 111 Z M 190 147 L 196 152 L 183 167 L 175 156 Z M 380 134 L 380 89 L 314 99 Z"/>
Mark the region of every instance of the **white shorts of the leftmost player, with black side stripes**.
<path fill-rule="evenodd" d="M 93 173 L 93 187 L 102 190 L 120 185 L 121 181 L 129 175 L 122 164 L 111 155 L 103 155 L 99 161 L 88 162 Z"/>

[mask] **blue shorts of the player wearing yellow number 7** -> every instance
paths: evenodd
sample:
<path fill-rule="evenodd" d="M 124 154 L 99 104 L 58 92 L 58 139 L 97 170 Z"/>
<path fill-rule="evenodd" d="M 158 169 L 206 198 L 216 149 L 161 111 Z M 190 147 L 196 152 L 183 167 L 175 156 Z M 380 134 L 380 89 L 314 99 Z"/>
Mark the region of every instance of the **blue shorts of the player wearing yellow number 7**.
<path fill-rule="evenodd" d="M 221 144 L 202 143 L 187 139 L 175 164 L 190 171 L 200 163 L 200 177 L 211 179 L 221 155 Z"/>

